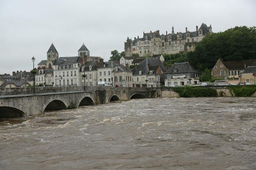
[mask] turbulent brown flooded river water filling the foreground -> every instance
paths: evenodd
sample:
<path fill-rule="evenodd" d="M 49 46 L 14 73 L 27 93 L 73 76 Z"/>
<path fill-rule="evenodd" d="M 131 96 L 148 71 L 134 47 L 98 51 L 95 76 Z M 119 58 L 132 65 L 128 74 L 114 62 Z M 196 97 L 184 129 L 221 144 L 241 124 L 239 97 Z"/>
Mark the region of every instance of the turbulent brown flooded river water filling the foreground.
<path fill-rule="evenodd" d="M 255 170 L 256 98 L 146 98 L 1 119 L 0 169 Z"/>

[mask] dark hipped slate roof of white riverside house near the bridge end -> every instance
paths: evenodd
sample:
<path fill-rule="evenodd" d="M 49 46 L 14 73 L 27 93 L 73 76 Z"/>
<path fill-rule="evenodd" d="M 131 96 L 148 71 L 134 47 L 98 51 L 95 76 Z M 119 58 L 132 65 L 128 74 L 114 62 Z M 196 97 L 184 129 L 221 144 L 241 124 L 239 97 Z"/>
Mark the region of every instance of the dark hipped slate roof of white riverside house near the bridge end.
<path fill-rule="evenodd" d="M 184 72 L 198 72 L 190 63 L 174 63 L 169 70 L 166 71 L 166 74 L 174 73 L 174 68 L 177 67 L 178 70 L 175 73 L 184 73 Z"/>

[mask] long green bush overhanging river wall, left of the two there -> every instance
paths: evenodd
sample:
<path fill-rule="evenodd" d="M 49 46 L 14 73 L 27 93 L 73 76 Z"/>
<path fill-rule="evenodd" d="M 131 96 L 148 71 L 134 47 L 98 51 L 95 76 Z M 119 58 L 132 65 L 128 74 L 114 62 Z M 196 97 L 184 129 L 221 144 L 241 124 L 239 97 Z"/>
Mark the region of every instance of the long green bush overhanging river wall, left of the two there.
<path fill-rule="evenodd" d="M 184 98 L 198 98 L 198 97 L 217 97 L 217 91 L 213 88 L 183 86 L 172 88 L 180 97 Z"/>

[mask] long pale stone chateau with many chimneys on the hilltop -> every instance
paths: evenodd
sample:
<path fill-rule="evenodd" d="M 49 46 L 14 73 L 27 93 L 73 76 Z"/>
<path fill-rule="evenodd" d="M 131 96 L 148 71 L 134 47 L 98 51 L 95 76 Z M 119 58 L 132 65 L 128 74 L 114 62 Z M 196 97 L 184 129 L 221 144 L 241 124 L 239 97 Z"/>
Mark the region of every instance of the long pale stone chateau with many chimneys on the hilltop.
<path fill-rule="evenodd" d="M 144 33 L 143 37 L 134 37 L 134 40 L 127 37 L 126 42 L 124 42 L 124 51 L 126 57 L 132 57 L 137 55 L 142 56 L 152 56 L 156 54 L 174 54 L 181 51 L 194 51 L 195 44 L 201 41 L 206 33 L 212 33 L 212 25 L 209 27 L 202 23 L 200 28 L 196 26 L 196 31 L 188 31 L 186 27 L 186 32 L 174 33 L 174 27 L 172 27 L 172 33 L 167 33 L 166 35 L 160 35 L 159 30 L 150 33 Z"/>

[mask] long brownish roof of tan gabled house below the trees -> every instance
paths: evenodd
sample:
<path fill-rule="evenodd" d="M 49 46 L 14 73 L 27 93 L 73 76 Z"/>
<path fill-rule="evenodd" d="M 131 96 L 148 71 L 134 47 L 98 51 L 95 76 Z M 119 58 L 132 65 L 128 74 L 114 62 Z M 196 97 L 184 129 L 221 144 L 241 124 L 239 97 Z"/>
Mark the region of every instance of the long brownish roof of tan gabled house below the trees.
<path fill-rule="evenodd" d="M 253 66 L 256 60 L 224 61 L 222 62 L 228 70 L 244 70 L 248 66 Z"/>

